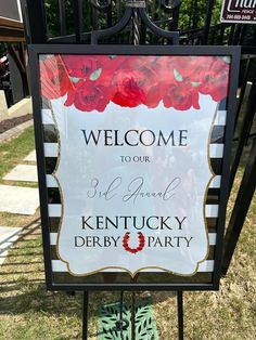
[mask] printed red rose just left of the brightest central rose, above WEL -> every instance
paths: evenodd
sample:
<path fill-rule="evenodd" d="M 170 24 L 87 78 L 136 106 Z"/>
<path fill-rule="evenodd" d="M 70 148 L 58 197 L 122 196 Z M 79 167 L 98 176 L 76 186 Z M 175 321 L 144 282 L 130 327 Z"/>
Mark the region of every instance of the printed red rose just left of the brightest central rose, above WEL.
<path fill-rule="evenodd" d="M 75 89 L 68 92 L 65 106 L 74 104 L 77 109 L 82 112 L 93 109 L 103 112 L 108 102 L 107 89 L 90 80 L 79 80 L 75 84 Z"/>

